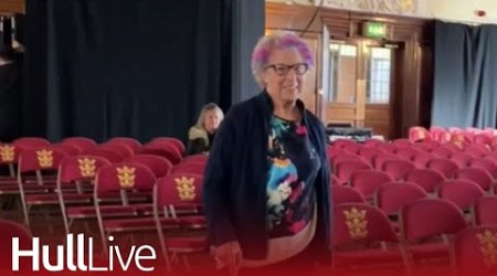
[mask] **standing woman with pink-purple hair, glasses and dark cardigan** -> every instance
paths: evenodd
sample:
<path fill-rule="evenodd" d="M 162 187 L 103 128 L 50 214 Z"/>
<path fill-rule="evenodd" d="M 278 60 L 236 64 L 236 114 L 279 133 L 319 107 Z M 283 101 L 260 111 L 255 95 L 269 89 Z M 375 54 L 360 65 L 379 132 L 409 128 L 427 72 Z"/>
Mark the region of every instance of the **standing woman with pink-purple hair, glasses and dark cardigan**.
<path fill-rule="evenodd" d="M 304 275 L 330 262 L 327 138 L 299 100 L 313 65 L 297 35 L 262 38 L 252 70 L 263 91 L 233 106 L 218 131 L 203 199 L 218 267 L 231 275 Z"/>

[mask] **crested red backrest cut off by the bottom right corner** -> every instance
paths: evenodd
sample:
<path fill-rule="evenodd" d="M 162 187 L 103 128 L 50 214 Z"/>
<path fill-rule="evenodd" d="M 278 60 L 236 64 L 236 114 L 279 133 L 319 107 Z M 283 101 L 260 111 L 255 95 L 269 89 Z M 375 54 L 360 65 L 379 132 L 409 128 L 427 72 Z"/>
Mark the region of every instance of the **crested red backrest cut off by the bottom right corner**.
<path fill-rule="evenodd" d="M 497 226 L 459 231 L 452 246 L 455 270 L 461 276 L 495 275 L 497 269 Z"/>

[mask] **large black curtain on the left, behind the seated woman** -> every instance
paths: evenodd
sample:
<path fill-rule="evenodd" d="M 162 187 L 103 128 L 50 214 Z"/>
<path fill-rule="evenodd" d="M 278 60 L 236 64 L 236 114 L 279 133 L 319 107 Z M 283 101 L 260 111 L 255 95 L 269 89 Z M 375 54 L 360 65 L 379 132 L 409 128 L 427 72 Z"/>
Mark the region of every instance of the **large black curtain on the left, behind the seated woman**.
<path fill-rule="evenodd" d="M 246 2 L 264 14 L 264 1 Z M 250 63 L 230 51 L 233 40 L 244 35 L 231 25 L 236 21 L 256 38 L 264 22 L 234 17 L 240 4 L 28 1 L 23 135 L 184 140 L 204 104 L 226 110 L 240 93 L 252 91 L 246 84 L 233 89 L 242 77 L 233 76 L 233 64 Z"/>

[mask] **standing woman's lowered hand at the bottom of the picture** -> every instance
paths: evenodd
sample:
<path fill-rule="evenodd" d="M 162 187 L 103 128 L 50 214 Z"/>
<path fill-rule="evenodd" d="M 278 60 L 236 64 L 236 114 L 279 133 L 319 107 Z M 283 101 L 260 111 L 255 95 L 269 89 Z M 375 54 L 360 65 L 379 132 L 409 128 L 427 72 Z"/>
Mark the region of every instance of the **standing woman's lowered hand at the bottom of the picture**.
<path fill-rule="evenodd" d="M 242 248 L 233 241 L 214 248 L 214 259 L 218 269 L 226 269 L 229 276 L 237 276 L 242 263 Z"/>

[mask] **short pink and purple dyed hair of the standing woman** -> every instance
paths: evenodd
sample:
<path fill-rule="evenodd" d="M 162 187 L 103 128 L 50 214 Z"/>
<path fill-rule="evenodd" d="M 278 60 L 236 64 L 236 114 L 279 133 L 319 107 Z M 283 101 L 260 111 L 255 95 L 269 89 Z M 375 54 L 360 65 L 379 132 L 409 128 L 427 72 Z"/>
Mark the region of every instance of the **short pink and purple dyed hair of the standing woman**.
<path fill-rule="evenodd" d="M 261 73 L 267 65 L 271 53 L 274 50 L 295 49 L 309 67 L 314 66 L 314 54 L 309 45 L 298 35 L 290 32 L 277 32 L 263 36 L 252 52 L 252 74 L 255 81 L 263 87 Z"/>

